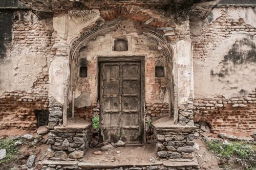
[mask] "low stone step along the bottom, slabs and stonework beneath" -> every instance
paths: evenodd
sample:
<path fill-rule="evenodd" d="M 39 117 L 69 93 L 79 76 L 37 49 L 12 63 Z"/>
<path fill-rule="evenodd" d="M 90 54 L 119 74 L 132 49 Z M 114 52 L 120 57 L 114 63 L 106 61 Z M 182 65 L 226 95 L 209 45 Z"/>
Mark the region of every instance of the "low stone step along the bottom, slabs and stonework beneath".
<path fill-rule="evenodd" d="M 130 163 L 122 163 L 115 164 L 113 162 L 108 162 L 104 164 L 100 163 L 90 163 L 86 161 L 70 161 L 70 160 L 62 160 L 62 161 L 49 161 L 46 160 L 42 162 L 43 169 L 53 170 L 53 169 L 83 169 L 83 170 L 104 170 L 104 169 L 112 169 L 112 170 L 198 170 L 200 169 L 197 162 L 192 161 L 190 159 L 174 159 L 172 161 L 157 161 L 155 163 L 137 163 L 131 165 Z"/>

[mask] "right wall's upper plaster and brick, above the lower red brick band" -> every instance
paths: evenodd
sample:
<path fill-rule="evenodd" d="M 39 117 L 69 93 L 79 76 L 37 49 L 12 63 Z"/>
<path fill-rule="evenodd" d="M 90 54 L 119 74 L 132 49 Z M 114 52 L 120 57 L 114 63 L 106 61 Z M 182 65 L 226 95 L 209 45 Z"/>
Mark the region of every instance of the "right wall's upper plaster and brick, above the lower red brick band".
<path fill-rule="evenodd" d="M 192 37 L 196 95 L 230 97 L 255 87 L 255 14 L 253 8 L 215 8 L 201 35 Z"/>

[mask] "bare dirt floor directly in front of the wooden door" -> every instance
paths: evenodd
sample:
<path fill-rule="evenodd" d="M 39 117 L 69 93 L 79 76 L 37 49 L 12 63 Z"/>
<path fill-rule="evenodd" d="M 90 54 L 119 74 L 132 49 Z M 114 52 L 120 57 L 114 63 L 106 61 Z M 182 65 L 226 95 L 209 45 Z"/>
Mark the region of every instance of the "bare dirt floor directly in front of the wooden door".
<path fill-rule="evenodd" d="M 146 144 L 146 147 L 118 147 L 110 152 L 103 152 L 102 155 L 95 155 L 95 151 L 100 149 L 90 148 L 82 158 L 85 162 L 96 164 L 152 164 L 158 162 L 153 144 Z M 119 151 L 120 153 L 117 153 Z"/>

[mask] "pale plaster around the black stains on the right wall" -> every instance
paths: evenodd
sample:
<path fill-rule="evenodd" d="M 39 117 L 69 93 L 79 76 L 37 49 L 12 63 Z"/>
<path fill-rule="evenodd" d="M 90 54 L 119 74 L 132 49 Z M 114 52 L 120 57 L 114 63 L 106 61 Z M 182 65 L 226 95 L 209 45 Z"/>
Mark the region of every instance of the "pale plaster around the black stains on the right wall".
<path fill-rule="evenodd" d="M 220 63 L 232 45 L 239 40 L 248 39 L 256 44 L 256 36 L 251 37 L 248 34 L 234 34 L 226 38 L 217 46 L 214 51 L 204 60 L 194 60 L 194 80 L 195 80 L 195 94 L 196 95 L 209 95 L 209 94 L 223 94 L 226 98 L 232 95 L 237 95 L 241 89 L 247 93 L 250 92 L 256 84 L 256 63 L 243 63 L 233 65 L 228 63 L 225 65 L 229 70 L 228 76 L 219 78 L 218 76 L 211 77 L 210 71 L 218 73 L 222 68 Z M 246 57 L 248 50 L 251 50 L 247 45 L 239 46 L 239 51 L 243 57 Z"/>

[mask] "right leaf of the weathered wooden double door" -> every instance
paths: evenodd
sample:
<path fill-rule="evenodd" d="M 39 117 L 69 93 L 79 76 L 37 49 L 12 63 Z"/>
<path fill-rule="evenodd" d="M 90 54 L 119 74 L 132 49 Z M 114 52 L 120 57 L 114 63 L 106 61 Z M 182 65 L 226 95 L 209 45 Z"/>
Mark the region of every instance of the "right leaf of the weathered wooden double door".
<path fill-rule="evenodd" d="M 139 62 L 122 63 L 122 140 L 136 143 L 141 139 Z"/>

